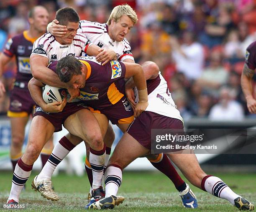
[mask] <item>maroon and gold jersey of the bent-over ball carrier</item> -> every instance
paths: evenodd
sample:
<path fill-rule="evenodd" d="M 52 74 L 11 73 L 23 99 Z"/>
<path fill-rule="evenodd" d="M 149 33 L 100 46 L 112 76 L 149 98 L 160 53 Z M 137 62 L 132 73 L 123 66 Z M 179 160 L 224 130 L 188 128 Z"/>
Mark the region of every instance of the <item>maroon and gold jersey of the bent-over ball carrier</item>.
<path fill-rule="evenodd" d="M 125 65 L 120 61 L 110 61 L 105 66 L 100 65 L 95 57 L 77 57 L 87 66 L 85 86 L 80 89 L 80 100 L 86 105 L 101 110 L 115 105 L 125 94 Z M 55 71 L 56 62 L 49 65 Z"/>

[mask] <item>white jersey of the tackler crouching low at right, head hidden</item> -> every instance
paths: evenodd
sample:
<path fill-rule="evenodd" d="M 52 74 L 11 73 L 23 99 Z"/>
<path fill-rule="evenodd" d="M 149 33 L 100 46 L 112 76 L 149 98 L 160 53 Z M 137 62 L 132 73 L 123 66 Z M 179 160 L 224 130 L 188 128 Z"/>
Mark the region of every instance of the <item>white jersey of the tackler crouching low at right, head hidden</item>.
<path fill-rule="evenodd" d="M 179 119 L 183 122 L 183 119 L 177 110 L 169 89 L 167 82 L 159 72 L 159 76 L 156 79 L 147 80 L 148 88 L 148 107 L 146 111 L 155 112 L 160 115 L 164 115 L 171 118 Z M 138 102 L 138 91 L 135 88 L 134 94 L 136 96 L 135 102 Z"/>

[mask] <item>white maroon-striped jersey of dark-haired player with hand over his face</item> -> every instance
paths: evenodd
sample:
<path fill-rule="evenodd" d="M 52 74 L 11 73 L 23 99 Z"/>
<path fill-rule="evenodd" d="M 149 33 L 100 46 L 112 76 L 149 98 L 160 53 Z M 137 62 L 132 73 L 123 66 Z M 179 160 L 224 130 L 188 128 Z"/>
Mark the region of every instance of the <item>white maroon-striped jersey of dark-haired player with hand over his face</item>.
<path fill-rule="evenodd" d="M 58 61 L 65 56 L 81 56 L 82 52 L 92 44 L 90 40 L 81 33 L 74 36 L 71 44 L 60 44 L 51 33 L 45 33 L 34 42 L 32 54 L 45 56 L 49 63 Z"/>

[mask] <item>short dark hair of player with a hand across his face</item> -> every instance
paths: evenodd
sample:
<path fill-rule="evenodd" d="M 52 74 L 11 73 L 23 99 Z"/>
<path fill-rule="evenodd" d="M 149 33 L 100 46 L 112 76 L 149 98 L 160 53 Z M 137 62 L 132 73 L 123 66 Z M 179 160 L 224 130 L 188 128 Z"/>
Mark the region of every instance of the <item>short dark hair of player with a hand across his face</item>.
<path fill-rule="evenodd" d="M 73 8 L 61 8 L 56 12 L 55 19 L 59 20 L 59 25 L 66 26 L 68 22 L 78 23 L 80 18 Z"/>

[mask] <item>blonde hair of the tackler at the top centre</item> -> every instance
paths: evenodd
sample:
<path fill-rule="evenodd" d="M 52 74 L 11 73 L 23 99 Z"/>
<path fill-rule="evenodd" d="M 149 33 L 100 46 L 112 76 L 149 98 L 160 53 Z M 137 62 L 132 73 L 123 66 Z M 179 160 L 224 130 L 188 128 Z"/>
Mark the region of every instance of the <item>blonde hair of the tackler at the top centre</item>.
<path fill-rule="evenodd" d="M 112 10 L 108 18 L 108 22 L 107 22 L 108 25 L 111 24 L 111 20 L 118 22 L 123 15 L 127 15 L 129 18 L 131 18 L 134 24 L 137 23 L 138 21 L 138 17 L 136 15 L 136 12 L 133 10 L 133 8 L 131 8 L 130 5 L 125 4 L 125 5 L 118 5 L 114 7 L 114 9 Z"/>

